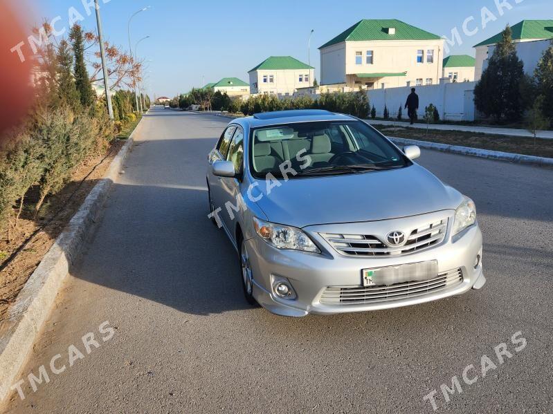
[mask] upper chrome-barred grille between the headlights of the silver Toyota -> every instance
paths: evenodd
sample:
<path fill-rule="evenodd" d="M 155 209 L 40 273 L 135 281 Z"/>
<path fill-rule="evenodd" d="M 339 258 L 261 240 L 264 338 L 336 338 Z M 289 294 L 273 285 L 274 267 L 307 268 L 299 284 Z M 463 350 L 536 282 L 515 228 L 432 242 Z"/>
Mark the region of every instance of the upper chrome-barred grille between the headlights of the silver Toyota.
<path fill-rule="evenodd" d="M 399 247 L 390 247 L 380 237 L 366 234 L 321 234 L 340 254 L 346 256 L 400 256 L 419 252 L 444 241 L 447 218 L 419 227 L 410 232 Z"/>

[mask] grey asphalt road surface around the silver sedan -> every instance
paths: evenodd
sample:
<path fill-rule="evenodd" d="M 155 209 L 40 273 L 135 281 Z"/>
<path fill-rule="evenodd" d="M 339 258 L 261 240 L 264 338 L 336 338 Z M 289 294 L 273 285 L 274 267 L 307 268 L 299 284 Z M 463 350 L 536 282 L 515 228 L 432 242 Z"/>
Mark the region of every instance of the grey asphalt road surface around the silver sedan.
<path fill-rule="evenodd" d="M 469 194 L 488 283 L 462 297 L 364 314 L 287 319 L 248 308 L 235 253 L 206 218 L 205 164 L 228 120 L 154 109 L 22 377 L 11 413 L 553 412 L 553 171 L 423 151 Z M 109 321 L 114 336 L 81 337 Z M 521 331 L 519 352 L 511 336 Z M 105 335 L 104 335 L 105 336 Z M 507 342 L 500 364 L 493 347 Z M 84 357 L 69 366 L 70 348 Z M 482 356 L 496 369 L 482 378 Z M 471 385 L 462 381 L 466 366 Z M 457 375 L 446 403 L 439 386 Z M 25 377 L 24 377 L 25 378 Z"/>

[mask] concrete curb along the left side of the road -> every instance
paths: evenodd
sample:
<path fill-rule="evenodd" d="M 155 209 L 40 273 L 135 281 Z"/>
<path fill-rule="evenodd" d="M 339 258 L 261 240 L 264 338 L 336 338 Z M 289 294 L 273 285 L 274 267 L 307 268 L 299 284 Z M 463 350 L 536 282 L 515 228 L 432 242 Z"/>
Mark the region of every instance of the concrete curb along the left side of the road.
<path fill-rule="evenodd" d="M 0 403 L 5 402 L 10 395 L 19 370 L 33 350 L 35 339 L 50 315 L 57 292 L 78 257 L 87 233 L 100 216 L 109 189 L 123 167 L 134 143 L 133 136 L 141 123 L 142 120 L 111 162 L 106 176 L 91 189 L 62 234 L 44 255 L 10 307 L 6 321 L 1 323 Z"/>

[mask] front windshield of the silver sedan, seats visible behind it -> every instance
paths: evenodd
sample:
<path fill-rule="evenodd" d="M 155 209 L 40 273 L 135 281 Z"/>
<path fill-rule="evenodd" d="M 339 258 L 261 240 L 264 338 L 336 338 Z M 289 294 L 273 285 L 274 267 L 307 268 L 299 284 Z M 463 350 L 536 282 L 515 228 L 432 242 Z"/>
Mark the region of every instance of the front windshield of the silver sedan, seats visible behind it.
<path fill-rule="evenodd" d="M 396 169 L 409 160 L 377 131 L 361 121 L 302 122 L 253 130 L 251 173 L 314 176 Z"/>

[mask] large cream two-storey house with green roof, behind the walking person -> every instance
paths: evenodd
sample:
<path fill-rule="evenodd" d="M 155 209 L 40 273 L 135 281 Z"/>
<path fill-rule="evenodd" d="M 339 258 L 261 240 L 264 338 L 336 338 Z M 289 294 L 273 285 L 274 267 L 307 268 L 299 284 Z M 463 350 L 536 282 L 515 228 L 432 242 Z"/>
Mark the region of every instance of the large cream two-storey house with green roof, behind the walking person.
<path fill-rule="evenodd" d="M 350 91 L 439 83 L 444 39 L 397 19 L 364 19 L 320 46 L 320 84 Z"/>

